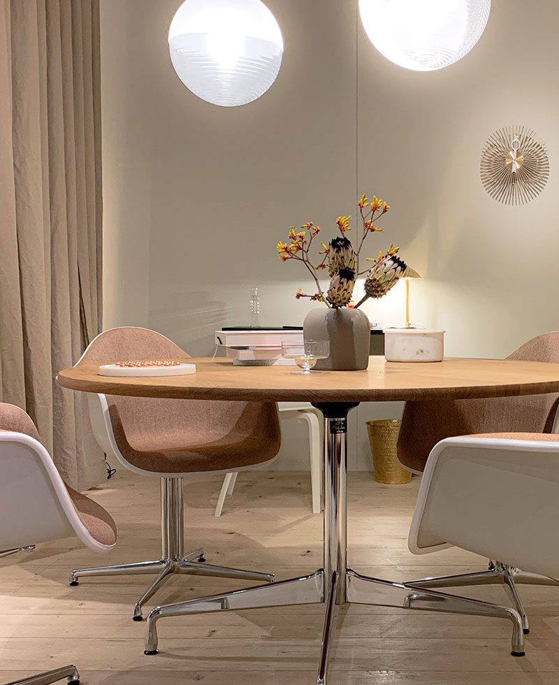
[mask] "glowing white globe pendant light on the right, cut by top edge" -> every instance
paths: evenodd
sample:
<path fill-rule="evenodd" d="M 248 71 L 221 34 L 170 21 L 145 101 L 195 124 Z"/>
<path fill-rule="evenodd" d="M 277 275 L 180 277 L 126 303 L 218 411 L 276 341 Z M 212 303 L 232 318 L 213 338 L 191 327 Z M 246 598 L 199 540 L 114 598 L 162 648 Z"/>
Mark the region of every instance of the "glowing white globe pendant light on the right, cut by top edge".
<path fill-rule="evenodd" d="M 363 27 L 379 52 L 405 69 L 435 71 L 481 38 L 491 0 L 359 0 Z"/>

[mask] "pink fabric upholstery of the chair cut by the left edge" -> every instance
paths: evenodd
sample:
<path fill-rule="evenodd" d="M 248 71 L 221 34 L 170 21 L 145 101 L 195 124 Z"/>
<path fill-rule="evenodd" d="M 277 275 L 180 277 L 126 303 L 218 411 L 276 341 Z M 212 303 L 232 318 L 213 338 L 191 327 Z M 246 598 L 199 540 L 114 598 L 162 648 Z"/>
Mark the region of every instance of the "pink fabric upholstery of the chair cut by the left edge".
<path fill-rule="evenodd" d="M 29 437 L 41 442 L 29 414 L 14 405 L 0 403 L 0 430 L 29 435 Z M 75 491 L 70 486 L 66 485 L 66 489 L 75 511 L 82 524 L 89 531 L 89 535 L 97 542 L 101 542 L 102 545 L 114 545 L 117 541 L 117 526 L 110 514 L 94 500 Z"/>

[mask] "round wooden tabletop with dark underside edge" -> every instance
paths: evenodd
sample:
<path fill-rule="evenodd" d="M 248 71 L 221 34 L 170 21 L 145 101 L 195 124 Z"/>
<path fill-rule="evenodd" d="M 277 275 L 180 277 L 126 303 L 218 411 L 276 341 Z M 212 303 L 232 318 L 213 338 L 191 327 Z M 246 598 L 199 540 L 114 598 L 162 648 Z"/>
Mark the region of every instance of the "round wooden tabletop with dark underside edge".
<path fill-rule="evenodd" d="M 103 363 L 114 363 L 107 360 Z M 313 371 L 293 366 L 233 366 L 226 359 L 189 359 L 185 376 L 117 378 L 80 363 L 58 375 L 72 390 L 196 400 L 371 402 L 503 397 L 559 392 L 559 364 L 495 359 L 393 363 L 371 356 L 365 371 Z"/>

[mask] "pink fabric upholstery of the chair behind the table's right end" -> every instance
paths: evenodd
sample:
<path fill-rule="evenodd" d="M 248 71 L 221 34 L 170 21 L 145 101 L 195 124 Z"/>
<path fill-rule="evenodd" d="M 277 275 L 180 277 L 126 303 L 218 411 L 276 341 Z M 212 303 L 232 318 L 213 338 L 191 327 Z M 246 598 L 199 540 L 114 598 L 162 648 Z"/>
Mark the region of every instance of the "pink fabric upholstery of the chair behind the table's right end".
<path fill-rule="evenodd" d="M 559 363 L 559 333 L 529 340 L 507 359 Z M 398 459 L 423 471 L 431 449 L 444 438 L 479 433 L 549 433 L 558 394 L 479 400 L 408 402 L 398 438 Z"/>

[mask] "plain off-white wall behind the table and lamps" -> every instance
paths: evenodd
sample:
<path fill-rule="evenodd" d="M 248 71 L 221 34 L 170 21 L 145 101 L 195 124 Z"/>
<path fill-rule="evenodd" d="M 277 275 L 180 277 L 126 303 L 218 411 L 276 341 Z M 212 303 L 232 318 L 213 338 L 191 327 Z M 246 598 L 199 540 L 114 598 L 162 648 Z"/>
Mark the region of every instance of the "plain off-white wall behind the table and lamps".
<path fill-rule="evenodd" d="M 263 324 L 300 324 L 309 305 L 292 294 L 307 281 L 275 243 L 309 219 L 328 235 L 374 192 L 392 209 L 370 251 L 402 246 L 423 275 L 412 318 L 446 329 L 449 354 L 504 356 L 559 328 L 559 3 L 493 0 L 476 48 L 432 73 L 379 55 L 355 0 L 266 3 L 284 34 L 279 78 L 258 101 L 219 108 L 170 66 L 180 0 L 101 0 L 106 326 L 149 325 L 209 354 L 217 327 L 246 321 L 253 285 Z M 511 123 L 536 129 L 551 157 L 549 186 L 524 207 L 479 180 L 484 141 Z M 401 322 L 402 289 L 365 310 Z M 361 405 L 353 468 L 370 464 L 364 420 L 400 411 Z M 277 468 L 306 468 L 300 431 Z"/>

